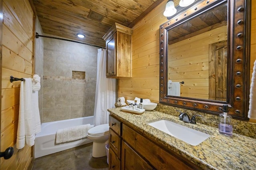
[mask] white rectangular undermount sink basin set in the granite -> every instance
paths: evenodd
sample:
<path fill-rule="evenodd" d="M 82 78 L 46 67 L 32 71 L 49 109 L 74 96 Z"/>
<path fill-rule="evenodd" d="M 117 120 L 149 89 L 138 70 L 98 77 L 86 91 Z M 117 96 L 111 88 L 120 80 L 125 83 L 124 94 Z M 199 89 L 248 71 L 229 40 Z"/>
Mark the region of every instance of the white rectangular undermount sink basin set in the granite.
<path fill-rule="evenodd" d="M 193 146 L 200 144 L 210 137 L 209 134 L 176 124 L 168 120 L 158 120 L 156 122 L 148 123 L 148 125 L 153 126 L 154 128 L 157 128 L 158 130 L 170 134 L 171 136 L 174 136 Z"/>

